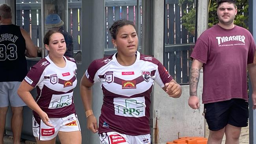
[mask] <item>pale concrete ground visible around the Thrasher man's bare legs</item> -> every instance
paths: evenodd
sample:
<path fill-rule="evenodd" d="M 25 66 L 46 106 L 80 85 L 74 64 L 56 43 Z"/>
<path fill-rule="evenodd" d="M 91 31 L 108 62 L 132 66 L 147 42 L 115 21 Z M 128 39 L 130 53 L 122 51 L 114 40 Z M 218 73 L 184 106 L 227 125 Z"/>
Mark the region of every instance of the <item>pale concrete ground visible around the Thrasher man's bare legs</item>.
<path fill-rule="evenodd" d="M 208 138 L 208 136 L 209 136 L 209 129 L 208 129 L 207 123 L 206 123 L 205 129 L 206 129 L 205 137 Z M 221 144 L 225 144 L 225 139 L 226 139 L 226 137 L 224 135 Z M 239 144 L 249 144 L 249 125 L 247 127 L 242 127 Z"/>

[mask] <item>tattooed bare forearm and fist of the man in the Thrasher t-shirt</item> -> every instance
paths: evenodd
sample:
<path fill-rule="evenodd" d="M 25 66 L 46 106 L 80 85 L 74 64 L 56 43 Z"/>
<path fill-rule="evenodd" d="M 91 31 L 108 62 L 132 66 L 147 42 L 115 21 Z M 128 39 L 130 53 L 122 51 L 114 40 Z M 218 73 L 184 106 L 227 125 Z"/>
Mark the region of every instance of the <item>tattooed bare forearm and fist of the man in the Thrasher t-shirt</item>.
<path fill-rule="evenodd" d="M 198 109 L 200 107 L 199 98 L 197 97 L 197 86 L 200 77 L 200 69 L 203 63 L 193 59 L 192 66 L 189 72 L 189 100 L 188 105 L 192 109 Z"/>

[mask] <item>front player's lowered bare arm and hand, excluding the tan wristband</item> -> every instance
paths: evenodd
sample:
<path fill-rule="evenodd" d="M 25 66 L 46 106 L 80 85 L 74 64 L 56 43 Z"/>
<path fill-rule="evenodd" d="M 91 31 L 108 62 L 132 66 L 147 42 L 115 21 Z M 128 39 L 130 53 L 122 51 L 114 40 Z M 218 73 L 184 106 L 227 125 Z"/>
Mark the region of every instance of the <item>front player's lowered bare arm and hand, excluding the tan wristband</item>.
<path fill-rule="evenodd" d="M 91 81 L 89 81 L 89 79 L 87 79 L 84 74 L 80 81 L 80 94 L 85 111 L 92 110 L 92 86 L 93 83 L 91 83 Z M 87 128 L 90 129 L 93 133 L 98 132 L 97 120 L 94 115 L 87 117 Z"/>

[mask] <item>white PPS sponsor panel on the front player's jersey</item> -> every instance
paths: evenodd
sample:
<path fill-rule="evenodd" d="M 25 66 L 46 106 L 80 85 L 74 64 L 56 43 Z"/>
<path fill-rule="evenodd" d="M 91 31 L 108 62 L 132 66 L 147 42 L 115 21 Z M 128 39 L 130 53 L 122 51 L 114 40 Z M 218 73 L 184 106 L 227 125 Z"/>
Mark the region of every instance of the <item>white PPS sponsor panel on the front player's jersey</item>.
<path fill-rule="evenodd" d="M 126 117 L 145 116 L 145 98 L 114 98 L 115 115 Z"/>

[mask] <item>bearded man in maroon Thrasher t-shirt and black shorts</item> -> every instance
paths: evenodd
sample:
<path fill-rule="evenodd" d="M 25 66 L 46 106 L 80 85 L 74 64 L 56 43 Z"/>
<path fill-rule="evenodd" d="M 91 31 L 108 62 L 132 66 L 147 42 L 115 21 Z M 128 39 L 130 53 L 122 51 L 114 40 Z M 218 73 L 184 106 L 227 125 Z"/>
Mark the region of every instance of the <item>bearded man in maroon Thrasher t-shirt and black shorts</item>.
<path fill-rule="evenodd" d="M 256 86 L 253 63 L 256 46 L 249 31 L 234 25 L 236 0 L 217 0 L 219 23 L 204 31 L 191 54 L 189 106 L 198 109 L 197 85 L 203 66 L 205 118 L 210 129 L 208 144 L 239 144 L 241 127 L 248 126 L 247 67 Z M 253 88 L 253 90 L 255 90 Z M 253 109 L 256 91 L 252 92 Z"/>

